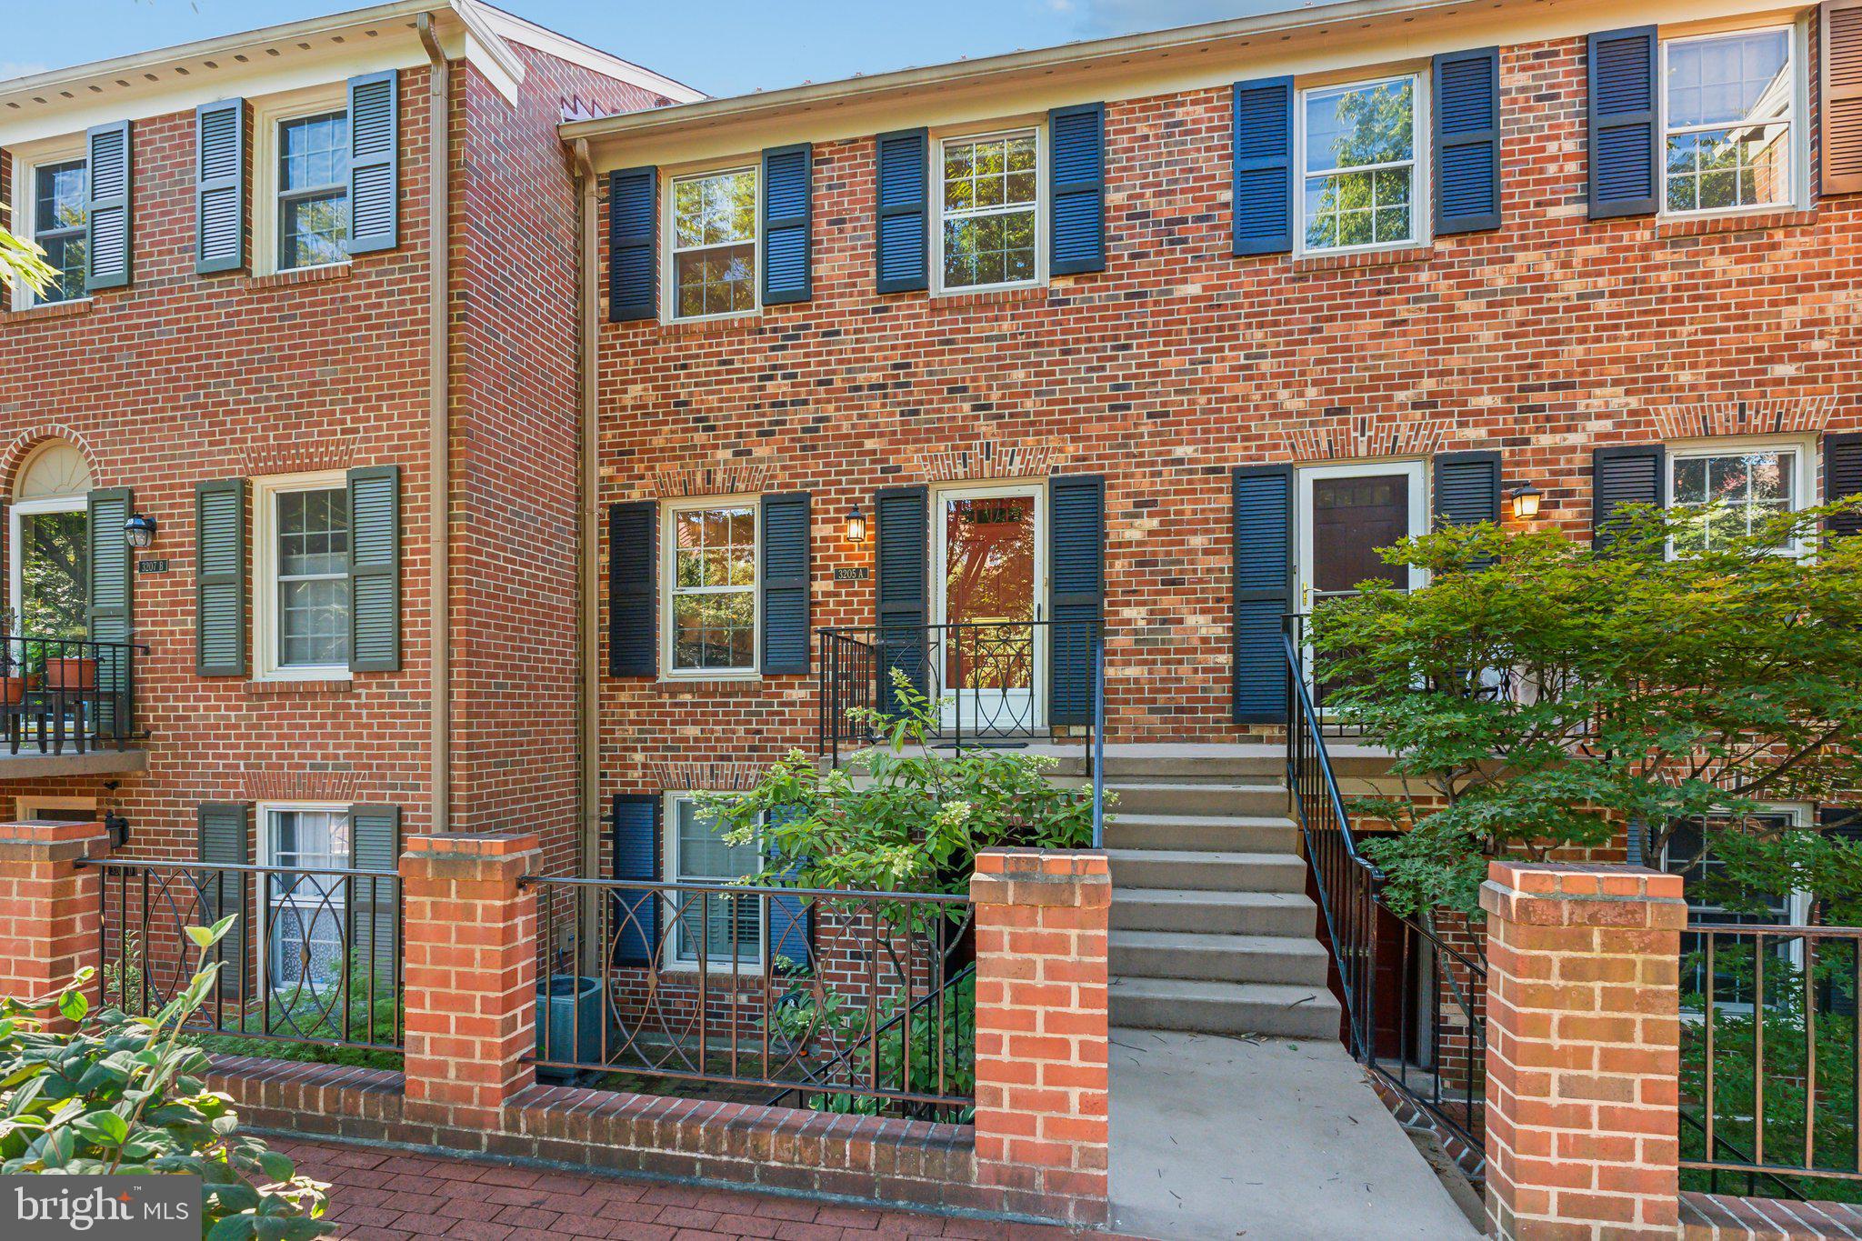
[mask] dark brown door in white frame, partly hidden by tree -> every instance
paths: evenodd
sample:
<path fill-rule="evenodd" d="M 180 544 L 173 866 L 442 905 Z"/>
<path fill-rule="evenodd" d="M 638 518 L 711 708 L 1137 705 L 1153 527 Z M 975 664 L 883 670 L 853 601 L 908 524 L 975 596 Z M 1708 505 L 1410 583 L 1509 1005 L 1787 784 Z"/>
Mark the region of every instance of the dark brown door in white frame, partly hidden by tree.
<path fill-rule="evenodd" d="M 1423 571 L 1385 564 L 1378 554 L 1428 528 L 1423 461 L 1313 465 L 1298 486 L 1298 612 L 1311 616 L 1326 599 L 1357 594 L 1359 582 L 1385 580 L 1404 590 Z M 1311 649 L 1305 666 L 1313 666 Z"/>

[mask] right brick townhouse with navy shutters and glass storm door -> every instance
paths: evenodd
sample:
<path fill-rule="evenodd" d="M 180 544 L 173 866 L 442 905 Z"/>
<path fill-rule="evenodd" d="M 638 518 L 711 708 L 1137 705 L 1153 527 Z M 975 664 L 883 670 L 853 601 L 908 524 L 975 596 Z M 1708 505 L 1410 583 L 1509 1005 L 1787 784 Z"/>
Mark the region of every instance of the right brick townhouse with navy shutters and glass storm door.
<path fill-rule="evenodd" d="M 1862 9 L 1633 17 L 1329 6 L 566 125 L 622 869 L 704 874 L 655 798 L 892 664 L 1045 739 L 1102 623 L 1113 742 L 1238 742 L 1283 614 L 1434 521 L 1862 487 Z"/>

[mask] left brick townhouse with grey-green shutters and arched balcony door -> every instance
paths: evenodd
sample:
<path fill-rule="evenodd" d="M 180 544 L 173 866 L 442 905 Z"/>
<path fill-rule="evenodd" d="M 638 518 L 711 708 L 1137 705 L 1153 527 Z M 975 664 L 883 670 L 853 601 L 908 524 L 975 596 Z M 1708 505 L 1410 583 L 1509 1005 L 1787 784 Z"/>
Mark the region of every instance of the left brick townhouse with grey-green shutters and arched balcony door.
<path fill-rule="evenodd" d="M 521 821 L 570 856 L 555 128 L 691 99 L 473 0 L 0 84 L 0 199 L 61 274 L 0 311 L 4 817 L 384 869 Z"/>

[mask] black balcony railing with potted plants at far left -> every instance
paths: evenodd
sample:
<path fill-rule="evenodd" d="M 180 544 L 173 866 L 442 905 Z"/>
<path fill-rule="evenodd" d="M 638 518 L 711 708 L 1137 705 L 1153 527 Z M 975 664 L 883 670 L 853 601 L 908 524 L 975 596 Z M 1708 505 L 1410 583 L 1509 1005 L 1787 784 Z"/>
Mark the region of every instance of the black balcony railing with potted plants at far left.
<path fill-rule="evenodd" d="M 115 746 L 142 733 L 136 724 L 134 642 L 86 638 L 0 638 L 0 720 L 11 754 L 76 754 Z"/>

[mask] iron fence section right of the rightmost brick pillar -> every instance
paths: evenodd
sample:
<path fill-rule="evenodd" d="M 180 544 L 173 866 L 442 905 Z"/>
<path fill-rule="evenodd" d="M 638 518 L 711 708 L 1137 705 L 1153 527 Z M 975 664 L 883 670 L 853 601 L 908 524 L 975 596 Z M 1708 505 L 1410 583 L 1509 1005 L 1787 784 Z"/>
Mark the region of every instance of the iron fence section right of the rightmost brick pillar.
<path fill-rule="evenodd" d="M 1680 988 L 1685 1187 L 1862 1200 L 1862 928 L 1691 925 Z"/>

